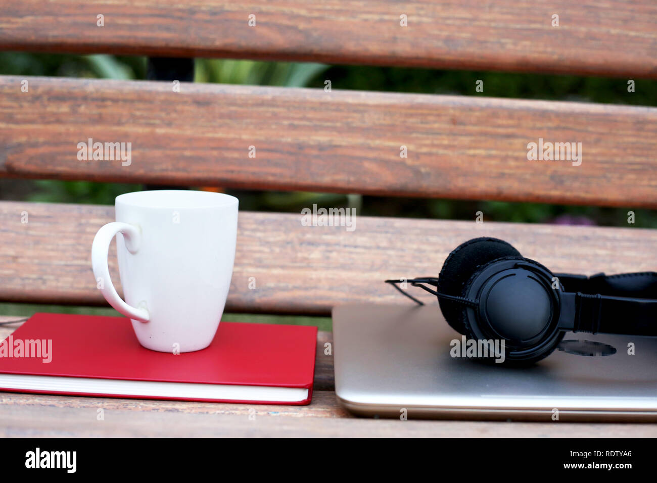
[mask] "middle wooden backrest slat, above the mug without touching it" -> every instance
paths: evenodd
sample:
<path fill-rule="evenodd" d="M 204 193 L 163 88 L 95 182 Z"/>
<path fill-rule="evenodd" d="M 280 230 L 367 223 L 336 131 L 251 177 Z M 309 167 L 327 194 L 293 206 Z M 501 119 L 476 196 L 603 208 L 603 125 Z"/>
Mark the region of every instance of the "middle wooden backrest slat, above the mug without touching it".
<path fill-rule="evenodd" d="M 0 77 L 0 176 L 657 207 L 657 108 L 21 80 Z M 79 160 L 90 138 L 131 164 Z M 581 166 L 529 161 L 539 138 L 581 143 Z"/>

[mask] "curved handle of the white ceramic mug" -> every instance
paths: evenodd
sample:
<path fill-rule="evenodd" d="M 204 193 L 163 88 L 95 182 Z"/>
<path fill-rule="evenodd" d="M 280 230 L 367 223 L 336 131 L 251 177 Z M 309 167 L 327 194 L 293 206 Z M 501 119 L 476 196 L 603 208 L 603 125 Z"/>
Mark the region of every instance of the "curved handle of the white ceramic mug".
<path fill-rule="evenodd" d="M 102 284 L 99 290 L 101 290 L 101 294 L 105 300 L 110 303 L 110 306 L 126 317 L 140 322 L 148 322 L 148 319 L 150 319 L 148 310 L 145 308 L 135 308 L 126 304 L 116 292 L 112 279 L 110 279 L 107 254 L 110 249 L 110 242 L 117 233 L 123 233 L 127 251 L 137 253 L 139 242 L 141 241 L 139 228 L 135 227 L 135 225 L 120 223 L 118 221 L 107 223 L 96 233 L 93 244 L 91 245 L 91 267 L 93 268 L 93 275 L 97 281 L 101 279 Z"/>

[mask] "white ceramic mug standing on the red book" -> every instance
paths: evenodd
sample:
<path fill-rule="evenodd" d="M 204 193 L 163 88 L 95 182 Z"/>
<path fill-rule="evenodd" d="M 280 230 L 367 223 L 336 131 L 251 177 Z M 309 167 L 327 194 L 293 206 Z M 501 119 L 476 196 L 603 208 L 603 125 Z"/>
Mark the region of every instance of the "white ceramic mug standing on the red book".
<path fill-rule="evenodd" d="M 142 346 L 192 352 L 210 345 L 228 296 L 237 240 L 235 196 L 206 191 L 137 191 L 116 197 L 116 221 L 96 234 L 97 287 L 132 319 Z M 125 302 L 110 280 L 116 235 Z"/>

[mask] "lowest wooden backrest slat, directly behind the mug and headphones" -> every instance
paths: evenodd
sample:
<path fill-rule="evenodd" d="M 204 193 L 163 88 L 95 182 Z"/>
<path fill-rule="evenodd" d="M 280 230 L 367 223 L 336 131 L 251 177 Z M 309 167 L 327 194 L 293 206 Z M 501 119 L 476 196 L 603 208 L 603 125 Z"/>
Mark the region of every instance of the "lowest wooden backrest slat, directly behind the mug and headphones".
<path fill-rule="evenodd" d="M 29 223 L 21 223 L 23 212 Z M 106 305 L 90 252 L 109 221 L 111 206 L 0 202 L 0 301 Z M 355 218 L 353 227 L 240 212 L 227 311 L 328 315 L 346 302 L 405 303 L 384 279 L 437 276 L 453 248 L 481 236 L 509 241 L 555 272 L 657 268 L 657 230 L 368 217 Z M 109 260 L 120 285 L 114 243 Z M 248 288 L 249 277 L 256 289 Z M 436 304 L 428 294 L 424 300 Z"/>

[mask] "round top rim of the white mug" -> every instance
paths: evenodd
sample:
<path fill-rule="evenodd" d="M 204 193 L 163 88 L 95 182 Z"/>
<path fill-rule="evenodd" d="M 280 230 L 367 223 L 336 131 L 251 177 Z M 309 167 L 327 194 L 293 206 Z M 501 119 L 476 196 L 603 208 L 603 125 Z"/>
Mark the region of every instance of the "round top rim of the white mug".
<path fill-rule="evenodd" d="M 185 189 L 156 189 L 152 191 L 132 191 L 118 195 L 114 204 L 124 204 L 138 208 L 226 208 L 238 204 L 235 196 L 214 191 Z"/>

